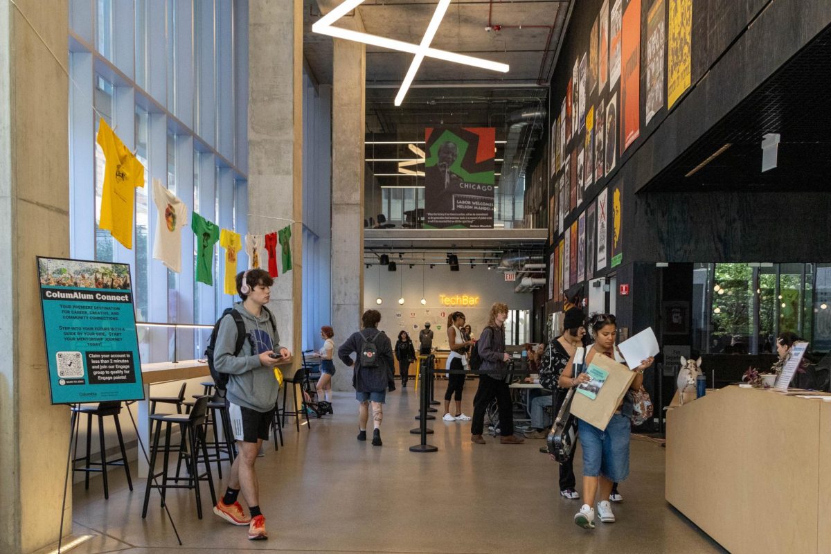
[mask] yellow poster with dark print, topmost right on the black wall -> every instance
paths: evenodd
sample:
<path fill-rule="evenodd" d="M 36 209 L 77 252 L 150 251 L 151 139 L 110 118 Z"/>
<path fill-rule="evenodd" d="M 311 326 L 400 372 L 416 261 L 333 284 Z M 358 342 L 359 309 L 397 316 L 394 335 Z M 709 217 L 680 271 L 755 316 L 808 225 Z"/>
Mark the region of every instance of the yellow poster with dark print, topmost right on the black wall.
<path fill-rule="evenodd" d="M 669 33 L 666 56 L 667 109 L 690 86 L 692 0 L 670 0 Z"/>

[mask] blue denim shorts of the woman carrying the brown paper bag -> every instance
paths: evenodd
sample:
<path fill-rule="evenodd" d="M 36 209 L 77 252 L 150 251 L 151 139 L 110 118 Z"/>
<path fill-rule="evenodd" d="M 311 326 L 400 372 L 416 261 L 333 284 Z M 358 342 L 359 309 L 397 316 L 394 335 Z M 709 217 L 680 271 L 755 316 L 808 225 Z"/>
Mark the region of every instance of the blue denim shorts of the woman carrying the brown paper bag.
<path fill-rule="evenodd" d="M 583 475 L 605 477 L 618 483 L 629 476 L 630 422 L 622 414 L 612 415 L 605 431 L 578 419 Z"/>

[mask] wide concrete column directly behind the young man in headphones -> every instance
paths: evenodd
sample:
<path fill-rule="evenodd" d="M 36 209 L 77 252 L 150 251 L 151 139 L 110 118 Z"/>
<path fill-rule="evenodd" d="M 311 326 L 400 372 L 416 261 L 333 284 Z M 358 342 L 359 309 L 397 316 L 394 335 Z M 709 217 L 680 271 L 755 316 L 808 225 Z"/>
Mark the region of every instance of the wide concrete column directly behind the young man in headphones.
<path fill-rule="evenodd" d="M 293 269 L 283 274 L 278 262 L 268 307 L 294 367 L 302 350 L 302 4 L 248 4 L 248 232 L 292 226 Z"/>

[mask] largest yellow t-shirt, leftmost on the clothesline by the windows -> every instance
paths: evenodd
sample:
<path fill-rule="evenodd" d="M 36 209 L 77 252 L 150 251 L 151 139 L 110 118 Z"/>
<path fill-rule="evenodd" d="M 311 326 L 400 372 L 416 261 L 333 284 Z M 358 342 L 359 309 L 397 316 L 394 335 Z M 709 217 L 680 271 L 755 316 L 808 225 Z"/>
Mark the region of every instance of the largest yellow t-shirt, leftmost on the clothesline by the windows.
<path fill-rule="evenodd" d="M 104 118 L 98 124 L 96 142 L 106 158 L 98 227 L 108 229 L 113 238 L 131 249 L 135 188 L 145 186 L 145 166 L 127 150 Z"/>

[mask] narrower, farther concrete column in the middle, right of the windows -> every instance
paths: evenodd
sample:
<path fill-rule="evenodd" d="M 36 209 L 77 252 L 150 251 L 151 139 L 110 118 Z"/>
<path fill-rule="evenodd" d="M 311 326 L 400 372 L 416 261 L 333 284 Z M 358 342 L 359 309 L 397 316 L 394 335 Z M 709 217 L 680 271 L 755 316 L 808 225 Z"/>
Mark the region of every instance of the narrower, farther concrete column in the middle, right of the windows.
<path fill-rule="evenodd" d="M 366 47 L 334 40 L 332 86 L 332 327 L 338 345 L 361 325 Z M 334 390 L 352 390 L 336 360 Z"/>

